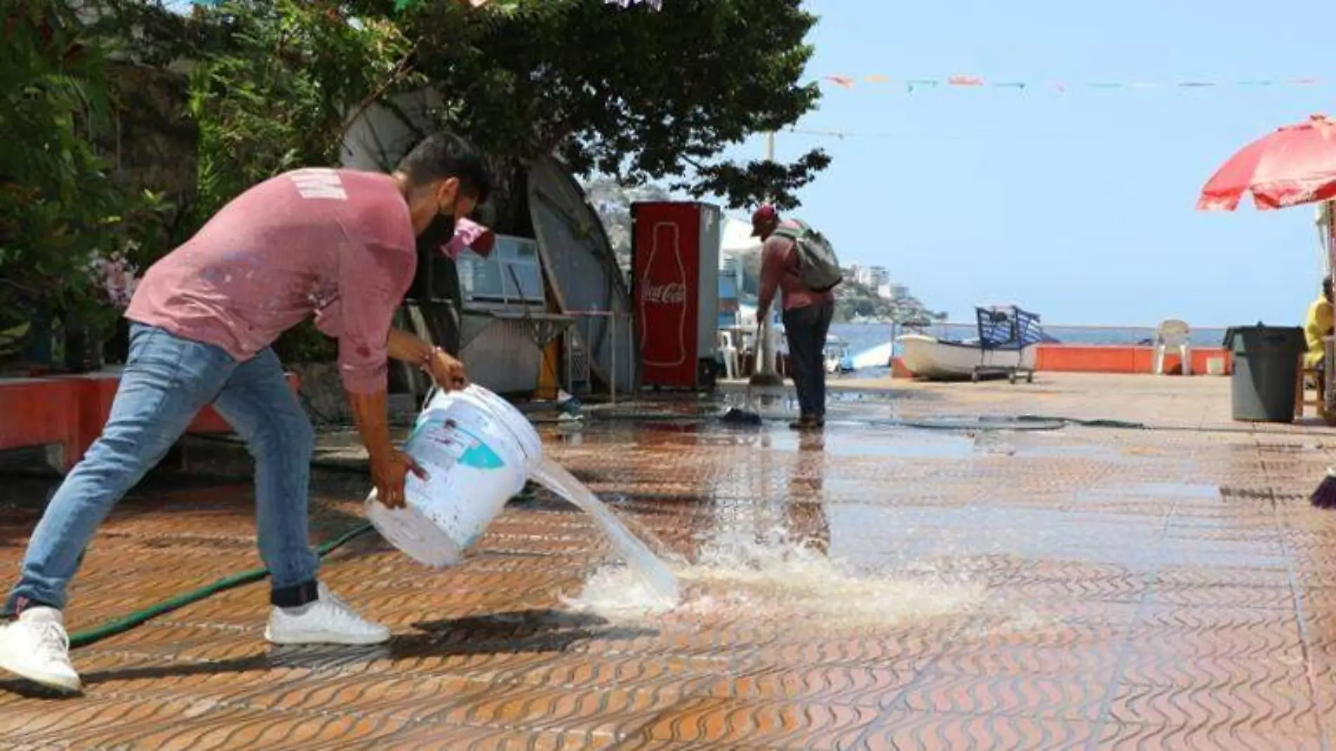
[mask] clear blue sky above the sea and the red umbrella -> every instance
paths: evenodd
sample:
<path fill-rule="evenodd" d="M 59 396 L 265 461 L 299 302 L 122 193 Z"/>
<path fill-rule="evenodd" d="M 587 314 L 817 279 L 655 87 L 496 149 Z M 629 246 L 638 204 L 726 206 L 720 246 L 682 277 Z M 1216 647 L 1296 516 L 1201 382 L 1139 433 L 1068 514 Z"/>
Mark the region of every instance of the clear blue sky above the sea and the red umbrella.
<path fill-rule="evenodd" d="M 669 0 L 671 1 L 671 0 Z M 1234 151 L 1336 114 L 1336 3 L 1238 0 L 888 3 L 810 0 L 826 86 L 778 156 L 834 164 L 802 194 L 846 263 L 886 266 L 930 307 L 971 318 L 1015 302 L 1046 323 L 1301 322 L 1321 273 L 1312 207 L 1200 214 Z M 939 88 L 955 73 L 1037 90 Z M 1092 82 L 1324 79 L 1323 86 L 1082 90 Z M 759 158 L 755 138 L 736 155 Z"/>

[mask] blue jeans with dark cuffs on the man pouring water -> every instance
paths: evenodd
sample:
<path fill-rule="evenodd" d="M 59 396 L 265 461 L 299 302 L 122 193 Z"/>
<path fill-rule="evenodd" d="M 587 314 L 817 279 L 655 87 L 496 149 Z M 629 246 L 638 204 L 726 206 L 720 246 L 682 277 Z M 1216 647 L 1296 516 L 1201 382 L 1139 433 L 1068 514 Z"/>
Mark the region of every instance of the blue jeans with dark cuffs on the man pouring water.
<path fill-rule="evenodd" d="M 236 362 L 212 345 L 132 323 L 107 425 L 47 504 L 5 613 L 31 604 L 64 609 L 65 585 L 98 525 L 210 402 L 255 457 L 259 553 L 271 575 L 271 601 L 315 600 L 319 559 L 307 544 L 306 518 L 314 433 L 278 355 L 266 349 Z"/>

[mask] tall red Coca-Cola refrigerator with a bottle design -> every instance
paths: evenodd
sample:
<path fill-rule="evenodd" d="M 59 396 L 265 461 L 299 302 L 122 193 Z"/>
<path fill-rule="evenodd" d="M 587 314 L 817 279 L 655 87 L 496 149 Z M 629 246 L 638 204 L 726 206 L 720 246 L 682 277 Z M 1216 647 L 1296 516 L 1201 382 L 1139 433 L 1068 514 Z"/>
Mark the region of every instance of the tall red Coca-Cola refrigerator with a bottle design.
<path fill-rule="evenodd" d="M 631 204 L 631 299 L 641 382 L 669 389 L 715 384 L 719 326 L 717 206 Z"/>

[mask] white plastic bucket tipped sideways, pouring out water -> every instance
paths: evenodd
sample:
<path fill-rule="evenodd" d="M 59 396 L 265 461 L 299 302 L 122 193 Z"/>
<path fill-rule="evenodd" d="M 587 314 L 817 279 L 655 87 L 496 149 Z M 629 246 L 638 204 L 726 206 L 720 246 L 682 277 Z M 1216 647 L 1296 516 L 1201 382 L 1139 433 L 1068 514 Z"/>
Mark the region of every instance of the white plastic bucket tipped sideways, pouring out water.
<path fill-rule="evenodd" d="M 366 498 L 366 517 L 413 560 L 458 563 L 542 461 L 542 441 L 509 402 L 481 386 L 436 392 L 403 448 L 429 474 L 409 474 L 405 508 Z"/>

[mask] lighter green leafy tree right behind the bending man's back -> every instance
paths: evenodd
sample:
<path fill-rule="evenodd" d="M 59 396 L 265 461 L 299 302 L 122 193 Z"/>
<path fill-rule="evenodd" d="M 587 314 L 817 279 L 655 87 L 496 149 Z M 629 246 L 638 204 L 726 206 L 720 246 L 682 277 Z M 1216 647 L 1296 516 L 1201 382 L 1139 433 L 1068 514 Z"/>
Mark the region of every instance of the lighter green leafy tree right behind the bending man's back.
<path fill-rule="evenodd" d="M 190 111 L 200 128 L 199 218 L 273 175 L 337 164 L 350 116 L 403 75 L 393 21 L 337 3 L 227 0 L 196 7 Z"/>

